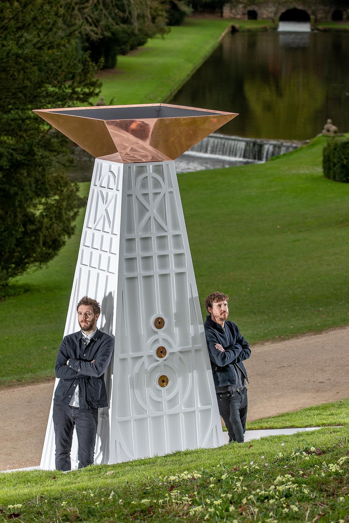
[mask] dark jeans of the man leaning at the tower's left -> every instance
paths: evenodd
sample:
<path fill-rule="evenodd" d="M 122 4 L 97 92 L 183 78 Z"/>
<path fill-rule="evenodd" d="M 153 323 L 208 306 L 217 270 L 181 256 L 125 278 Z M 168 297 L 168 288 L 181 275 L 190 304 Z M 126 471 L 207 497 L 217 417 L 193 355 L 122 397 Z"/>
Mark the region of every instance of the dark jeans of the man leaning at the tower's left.
<path fill-rule="evenodd" d="M 53 425 L 56 442 L 57 470 L 71 470 L 70 451 L 74 427 L 77 435 L 78 468 L 82 469 L 94 461 L 98 424 L 98 408 L 76 408 L 53 402 Z"/>

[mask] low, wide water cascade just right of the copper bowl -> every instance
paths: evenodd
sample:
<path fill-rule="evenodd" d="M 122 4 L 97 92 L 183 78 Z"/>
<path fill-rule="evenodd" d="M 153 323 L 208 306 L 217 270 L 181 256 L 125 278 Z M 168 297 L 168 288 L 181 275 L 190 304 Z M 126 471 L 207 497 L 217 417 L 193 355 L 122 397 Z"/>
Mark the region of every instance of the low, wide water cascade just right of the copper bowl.
<path fill-rule="evenodd" d="M 241 158 L 255 162 L 266 162 L 272 156 L 288 153 L 300 143 L 284 140 L 262 140 L 241 138 L 228 134 L 212 133 L 188 150 L 187 154 L 226 158 Z"/>

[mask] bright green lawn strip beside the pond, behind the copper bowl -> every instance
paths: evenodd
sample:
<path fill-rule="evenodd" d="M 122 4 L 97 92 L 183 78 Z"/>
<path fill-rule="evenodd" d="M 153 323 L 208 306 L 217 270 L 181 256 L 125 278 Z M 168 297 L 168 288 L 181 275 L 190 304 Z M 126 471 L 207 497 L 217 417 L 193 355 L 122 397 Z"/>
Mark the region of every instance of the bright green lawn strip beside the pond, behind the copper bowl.
<path fill-rule="evenodd" d="M 118 56 L 114 70 L 102 71 L 107 104 L 153 104 L 172 98 L 218 45 L 231 26 L 227 19 L 187 18 L 164 37 L 151 38 L 127 56 Z M 96 103 L 97 99 L 94 103 Z"/>

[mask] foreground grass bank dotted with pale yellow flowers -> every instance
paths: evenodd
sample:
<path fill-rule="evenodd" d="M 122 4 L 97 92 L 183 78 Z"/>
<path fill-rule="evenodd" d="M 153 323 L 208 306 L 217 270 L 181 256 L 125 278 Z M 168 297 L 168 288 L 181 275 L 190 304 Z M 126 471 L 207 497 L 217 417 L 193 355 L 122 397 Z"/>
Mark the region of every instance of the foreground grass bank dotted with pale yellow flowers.
<path fill-rule="evenodd" d="M 0 474 L 0 520 L 346 521 L 347 426 L 69 474 Z M 342 521 L 341 521 L 342 519 Z"/>

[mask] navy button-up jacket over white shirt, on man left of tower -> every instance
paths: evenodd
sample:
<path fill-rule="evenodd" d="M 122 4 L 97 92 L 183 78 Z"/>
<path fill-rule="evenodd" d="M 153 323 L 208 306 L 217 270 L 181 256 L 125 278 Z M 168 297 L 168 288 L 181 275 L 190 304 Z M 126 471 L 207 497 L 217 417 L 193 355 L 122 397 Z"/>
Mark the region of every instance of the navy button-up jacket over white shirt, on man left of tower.
<path fill-rule="evenodd" d="M 81 331 L 64 336 L 54 367 L 56 378 L 60 380 L 53 401 L 69 405 L 78 385 L 80 408 L 107 407 L 104 372 L 113 349 L 114 338 L 98 329 L 88 345 L 85 345 Z M 66 365 L 67 360 L 69 365 Z"/>

